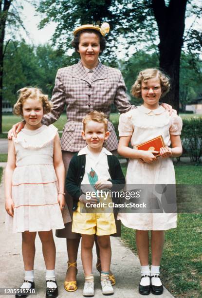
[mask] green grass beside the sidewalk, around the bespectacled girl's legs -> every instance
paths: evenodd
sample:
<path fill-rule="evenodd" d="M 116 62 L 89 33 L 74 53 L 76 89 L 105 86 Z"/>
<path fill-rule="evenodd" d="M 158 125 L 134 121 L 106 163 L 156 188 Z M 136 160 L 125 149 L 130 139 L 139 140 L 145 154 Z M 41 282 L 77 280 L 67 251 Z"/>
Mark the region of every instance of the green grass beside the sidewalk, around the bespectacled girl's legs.
<path fill-rule="evenodd" d="M 179 164 L 175 171 L 177 184 L 202 184 L 202 166 Z M 137 254 L 135 233 L 123 225 L 122 240 Z M 174 297 L 202 297 L 202 214 L 178 214 L 178 227 L 165 232 L 161 272 Z"/>

